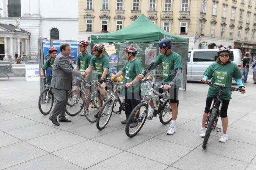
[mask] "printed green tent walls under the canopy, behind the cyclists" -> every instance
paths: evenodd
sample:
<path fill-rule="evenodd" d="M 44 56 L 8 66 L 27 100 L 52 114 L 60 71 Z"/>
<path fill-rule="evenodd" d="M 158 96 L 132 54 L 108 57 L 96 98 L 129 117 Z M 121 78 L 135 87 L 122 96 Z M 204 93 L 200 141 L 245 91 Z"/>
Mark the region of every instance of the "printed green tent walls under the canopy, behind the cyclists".
<path fill-rule="evenodd" d="M 95 43 L 96 44 L 96 43 Z M 92 43 L 92 46 L 95 45 Z M 109 57 L 110 72 L 115 73 L 122 69 L 128 61 L 123 51 L 126 47 L 132 46 L 138 49 L 136 58 L 142 63 L 142 70 L 152 63 L 159 55 L 158 43 L 147 42 L 110 42 L 102 43 L 105 45 L 106 52 L 104 53 Z M 188 44 L 173 43 L 172 50 L 182 57 L 182 89 L 186 86 L 186 70 L 188 60 Z M 174 71 L 171 71 L 172 73 Z M 148 75 L 154 76 L 154 82 L 160 83 L 162 81 L 163 69 L 162 65 L 158 65 L 155 70 L 150 71 Z"/>

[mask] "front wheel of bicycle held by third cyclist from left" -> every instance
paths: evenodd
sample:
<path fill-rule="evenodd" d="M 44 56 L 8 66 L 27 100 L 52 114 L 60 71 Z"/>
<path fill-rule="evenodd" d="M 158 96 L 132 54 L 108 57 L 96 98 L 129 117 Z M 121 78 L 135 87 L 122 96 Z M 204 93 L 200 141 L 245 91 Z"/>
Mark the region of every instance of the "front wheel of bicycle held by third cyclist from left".
<path fill-rule="evenodd" d="M 88 113 L 86 112 L 86 109 L 88 109 Z M 96 92 L 92 92 L 86 97 L 86 100 L 84 103 L 84 115 L 89 122 L 94 123 L 98 119 L 98 115 L 97 115 L 98 112 L 99 112 L 98 95 Z"/>

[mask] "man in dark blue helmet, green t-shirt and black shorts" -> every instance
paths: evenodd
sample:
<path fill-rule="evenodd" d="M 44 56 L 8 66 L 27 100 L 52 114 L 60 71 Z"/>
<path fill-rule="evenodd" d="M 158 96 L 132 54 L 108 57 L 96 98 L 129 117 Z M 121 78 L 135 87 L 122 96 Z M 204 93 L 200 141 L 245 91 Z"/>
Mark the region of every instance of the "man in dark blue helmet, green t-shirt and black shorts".
<path fill-rule="evenodd" d="M 150 69 L 156 68 L 157 65 L 162 63 L 163 67 L 163 80 L 164 84 L 163 89 L 156 90 L 159 93 L 164 93 L 164 91 L 168 90 L 170 93 L 170 106 L 172 108 L 172 121 L 169 127 L 167 134 L 174 134 L 176 132 L 176 119 L 178 116 L 178 107 L 177 107 L 177 99 L 178 99 L 178 89 L 181 87 L 181 70 L 182 70 L 182 58 L 180 55 L 174 51 L 172 51 L 172 40 L 170 38 L 163 38 L 158 42 L 158 47 L 160 54 L 156 57 L 153 63 L 150 64 L 148 68 L 144 70 L 144 73 L 138 76 L 139 79 L 143 79 L 147 74 L 147 71 Z M 150 102 L 151 112 L 148 114 L 148 118 L 151 119 L 154 114 L 154 104 Z"/>

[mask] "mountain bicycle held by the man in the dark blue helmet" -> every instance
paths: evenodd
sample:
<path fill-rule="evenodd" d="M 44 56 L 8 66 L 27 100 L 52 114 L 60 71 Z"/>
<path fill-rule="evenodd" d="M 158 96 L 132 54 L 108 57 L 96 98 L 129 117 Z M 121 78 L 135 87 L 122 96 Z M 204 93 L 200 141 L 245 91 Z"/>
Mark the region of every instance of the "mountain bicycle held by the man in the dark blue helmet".
<path fill-rule="evenodd" d="M 153 102 L 154 107 L 155 107 L 153 117 L 155 117 L 156 115 L 159 115 L 160 122 L 163 125 L 170 123 L 170 121 L 172 120 L 172 108 L 170 106 L 170 101 L 169 101 L 170 95 L 169 95 L 168 91 L 161 94 L 154 89 L 154 87 L 158 87 L 158 88 L 162 89 L 164 87 L 164 85 L 158 85 L 155 83 L 151 83 L 151 81 L 149 81 L 148 79 L 145 79 L 145 78 L 142 79 L 142 82 L 144 83 L 144 85 L 146 83 L 150 83 L 151 87 L 147 88 L 148 92 L 145 93 L 147 95 L 144 95 L 141 103 L 138 104 L 132 110 L 132 113 L 130 114 L 130 116 L 128 118 L 128 121 L 127 121 L 126 127 L 125 127 L 125 132 L 126 132 L 126 135 L 129 137 L 135 136 L 143 127 L 143 125 L 147 119 L 147 116 L 148 116 L 148 106 L 151 101 Z M 159 99 L 160 97 L 162 97 L 162 98 Z M 149 99 L 149 101 L 148 101 L 148 99 Z M 177 103 L 177 107 L 178 107 L 178 103 Z M 153 117 L 151 117 L 151 119 Z M 135 123 L 136 126 L 135 127 L 131 126 L 132 123 Z"/>

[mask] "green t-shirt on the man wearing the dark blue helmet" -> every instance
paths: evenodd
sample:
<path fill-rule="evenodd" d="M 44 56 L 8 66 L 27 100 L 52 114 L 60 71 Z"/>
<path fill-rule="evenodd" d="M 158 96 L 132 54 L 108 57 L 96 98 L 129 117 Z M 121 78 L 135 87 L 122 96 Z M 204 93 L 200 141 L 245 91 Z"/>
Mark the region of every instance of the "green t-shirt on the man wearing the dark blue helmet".
<path fill-rule="evenodd" d="M 154 60 L 156 65 L 162 63 L 163 68 L 163 81 L 162 83 L 168 84 L 173 80 L 174 70 L 182 68 L 182 58 L 180 55 L 172 51 L 169 55 L 160 53 Z M 179 79 L 174 87 L 181 87 L 181 79 Z"/>

